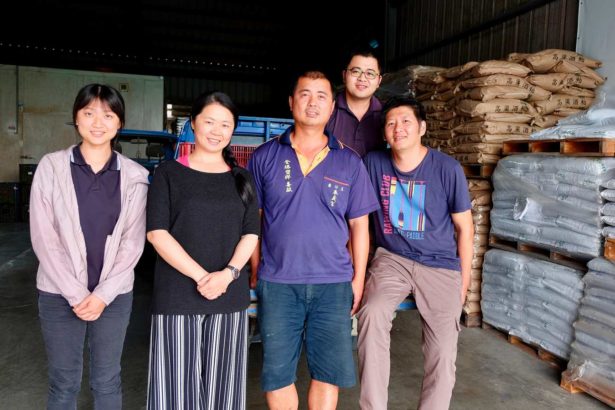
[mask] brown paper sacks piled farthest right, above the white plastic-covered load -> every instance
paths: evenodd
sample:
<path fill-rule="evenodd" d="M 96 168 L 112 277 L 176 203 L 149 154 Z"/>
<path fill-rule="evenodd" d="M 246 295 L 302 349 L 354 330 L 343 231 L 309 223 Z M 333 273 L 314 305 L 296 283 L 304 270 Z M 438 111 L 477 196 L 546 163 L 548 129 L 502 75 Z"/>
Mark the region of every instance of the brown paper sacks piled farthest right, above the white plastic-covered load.
<path fill-rule="evenodd" d="M 527 81 L 549 92 L 548 99 L 534 101 L 538 112 L 534 125 L 549 128 L 559 120 L 589 108 L 595 97 L 595 89 L 604 83 L 604 78 L 594 69 L 602 64 L 574 51 L 549 49 L 529 55 L 516 53 L 509 60 L 519 61 L 531 68 Z"/>

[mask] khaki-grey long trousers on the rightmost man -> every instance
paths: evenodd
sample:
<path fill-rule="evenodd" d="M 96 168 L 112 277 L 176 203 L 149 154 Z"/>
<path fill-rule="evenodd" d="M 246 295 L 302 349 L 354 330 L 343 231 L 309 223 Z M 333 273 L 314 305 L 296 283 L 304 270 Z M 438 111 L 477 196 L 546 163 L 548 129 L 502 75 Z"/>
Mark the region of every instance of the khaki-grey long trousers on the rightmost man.
<path fill-rule="evenodd" d="M 423 331 L 424 376 L 419 409 L 448 409 L 455 385 L 461 273 L 430 268 L 378 248 L 368 275 L 357 313 L 361 409 L 387 409 L 393 315 L 410 293 L 416 300 Z"/>

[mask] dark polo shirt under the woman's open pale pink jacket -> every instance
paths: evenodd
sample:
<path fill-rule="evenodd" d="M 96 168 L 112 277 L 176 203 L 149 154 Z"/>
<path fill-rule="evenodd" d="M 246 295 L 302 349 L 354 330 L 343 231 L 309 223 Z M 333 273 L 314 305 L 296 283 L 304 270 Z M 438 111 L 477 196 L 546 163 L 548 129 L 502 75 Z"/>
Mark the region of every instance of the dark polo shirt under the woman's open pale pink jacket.
<path fill-rule="evenodd" d="M 70 158 L 70 172 L 73 177 L 79 222 L 85 239 L 88 263 L 88 290 L 98 285 L 102 271 L 107 236 L 120 215 L 120 162 L 113 152 L 105 166 L 94 173 L 85 162 L 79 145 L 73 148 Z"/>

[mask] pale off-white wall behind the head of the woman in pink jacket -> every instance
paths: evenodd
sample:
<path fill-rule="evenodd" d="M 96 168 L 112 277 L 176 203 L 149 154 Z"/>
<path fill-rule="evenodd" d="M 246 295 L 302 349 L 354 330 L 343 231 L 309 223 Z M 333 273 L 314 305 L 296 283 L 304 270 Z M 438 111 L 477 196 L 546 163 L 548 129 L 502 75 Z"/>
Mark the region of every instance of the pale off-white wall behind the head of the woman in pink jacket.
<path fill-rule="evenodd" d="M 77 142 L 73 101 L 92 82 L 124 86 L 126 128 L 163 129 L 161 77 L 0 65 L 0 182 L 17 182 L 19 164 Z"/>

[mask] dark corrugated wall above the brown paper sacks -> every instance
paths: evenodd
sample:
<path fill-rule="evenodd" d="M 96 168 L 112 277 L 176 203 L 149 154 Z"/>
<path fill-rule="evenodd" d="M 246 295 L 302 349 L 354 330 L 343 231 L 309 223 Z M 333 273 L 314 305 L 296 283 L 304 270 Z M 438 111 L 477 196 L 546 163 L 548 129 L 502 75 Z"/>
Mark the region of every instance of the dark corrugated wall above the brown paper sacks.
<path fill-rule="evenodd" d="M 388 0 L 386 7 L 386 71 L 575 50 L 578 0 Z"/>

